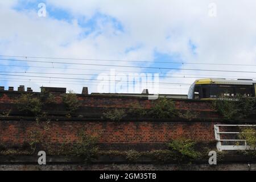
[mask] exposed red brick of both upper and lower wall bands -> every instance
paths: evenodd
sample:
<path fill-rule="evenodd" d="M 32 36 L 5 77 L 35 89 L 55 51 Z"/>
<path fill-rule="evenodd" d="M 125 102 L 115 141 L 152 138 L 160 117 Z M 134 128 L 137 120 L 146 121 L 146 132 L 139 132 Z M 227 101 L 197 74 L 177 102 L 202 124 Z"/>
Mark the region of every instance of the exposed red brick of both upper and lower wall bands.
<path fill-rule="evenodd" d="M 20 95 L 18 92 L 1 92 L 0 94 L 0 107 L 11 107 L 11 109 L 14 107 L 15 99 Z M 55 96 L 56 101 L 61 104 L 61 96 L 59 94 Z M 145 98 L 129 97 L 78 95 L 78 98 L 82 106 L 89 108 L 89 112 L 91 112 L 92 109 L 95 110 L 97 107 L 129 107 L 136 102 L 139 102 L 144 108 L 149 109 L 156 102 L 155 100 L 152 101 Z M 213 111 L 210 101 L 175 100 L 175 103 L 177 109 L 208 111 L 209 113 Z M 92 109 L 90 109 L 90 107 Z M 56 108 L 53 110 L 56 110 Z M 210 114 L 208 114 L 208 117 L 210 117 L 209 115 Z M 49 124 L 49 138 L 51 143 L 56 144 L 76 142 L 78 139 L 77 134 L 80 130 L 84 130 L 88 135 L 99 137 L 100 143 L 104 148 L 118 149 L 130 147 L 143 149 L 146 147 L 154 148 L 156 146 L 161 148 L 168 140 L 181 137 L 193 140 L 212 141 L 214 140 L 214 123 L 216 122 L 64 122 L 52 119 Z M 28 140 L 30 131 L 35 129 L 35 121 L 4 121 L 0 119 L 0 142 L 10 145 L 22 144 L 24 141 Z"/>

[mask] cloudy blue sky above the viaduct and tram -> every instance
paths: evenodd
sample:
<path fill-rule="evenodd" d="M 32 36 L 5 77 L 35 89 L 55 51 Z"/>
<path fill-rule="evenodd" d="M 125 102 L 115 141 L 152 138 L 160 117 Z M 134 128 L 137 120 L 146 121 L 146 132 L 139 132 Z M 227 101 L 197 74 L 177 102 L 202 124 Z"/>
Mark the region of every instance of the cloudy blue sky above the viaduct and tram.
<path fill-rule="evenodd" d="M 248 73 L 256 68 L 255 8 L 253 0 L 1 1 L 0 86 L 140 93 L 148 85 L 103 89 L 98 79 L 160 73 L 150 93 L 187 94 L 197 78 L 256 78 Z"/>

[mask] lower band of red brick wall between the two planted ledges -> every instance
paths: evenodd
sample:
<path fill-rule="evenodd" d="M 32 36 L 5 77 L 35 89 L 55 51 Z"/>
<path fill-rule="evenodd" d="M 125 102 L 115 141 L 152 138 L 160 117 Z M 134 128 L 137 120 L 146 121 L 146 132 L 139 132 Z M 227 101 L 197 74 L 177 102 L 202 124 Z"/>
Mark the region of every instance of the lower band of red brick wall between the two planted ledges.
<path fill-rule="evenodd" d="M 127 144 L 163 144 L 180 137 L 200 141 L 214 140 L 212 122 L 60 122 L 49 124 L 48 137 L 51 143 L 76 142 L 79 131 L 100 138 L 100 143 L 113 146 Z M 0 121 L 2 143 L 22 144 L 30 131 L 35 130 L 35 121 Z M 111 148 L 111 147 L 110 147 Z M 115 147 L 114 147 L 115 148 Z M 117 149 L 117 148 L 115 148 Z"/>

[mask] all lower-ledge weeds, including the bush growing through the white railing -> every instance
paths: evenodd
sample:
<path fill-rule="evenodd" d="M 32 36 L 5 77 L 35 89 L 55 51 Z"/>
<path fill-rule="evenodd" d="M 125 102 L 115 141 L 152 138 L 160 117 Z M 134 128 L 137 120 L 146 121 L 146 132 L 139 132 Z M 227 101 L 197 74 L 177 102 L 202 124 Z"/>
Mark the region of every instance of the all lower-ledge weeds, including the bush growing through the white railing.
<path fill-rule="evenodd" d="M 40 127 L 43 125 L 40 124 Z M 42 130 L 43 131 L 43 130 Z M 255 144 L 255 136 L 251 137 L 252 130 L 243 130 L 243 134 L 241 134 L 241 139 L 247 139 L 249 144 L 252 146 L 250 142 Z M 168 149 L 166 150 L 152 150 L 152 151 L 100 151 L 98 148 L 98 137 L 93 137 L 89 135 L 85 135 L 84 133 L 78 133 L 79 140 L 76 143 L 73 142 L 64 142 L 61 146 L 49 146 L 50 144 L 46 143 L 45 137 L 43 133 L 36 135 L 31 135 L 30 139 L 20 148 L 10 148 L 6 147 L 3 142 L 0 142 L 0 155 L 34 155 L 35 151 L 44 150 L 47 152 L 47 155 L 59 155 L 66 156 L 67 160 L 71 156 L 79 156 L 84 160 L 85 163 L 92 162 L 92 159 L 98 158 L 98 156 L 109 156 L 113 157 L 121 157 L 122 159 L 126 159 L 129 163 L 136 163 L 144 159 L 152 160 L 155 164 L 164 164 L 164 163 L 195 163 L 197 160 L 203 160 L 205 162 L 208 161 L 209 156 L 208 152 L 212 150 L 216 150 L 215 146 L 208 146 L 210 143 L 204 143 L 203 146 L 200 146 L 200 143 L 193 142 L 189 139 L 175 139 L 171 140 L 167 143 Z M 202 143 L 201 143 L 202 144 Z M 35 147 L 37 145 L 38 147 Z M 210 144 L 211 145 L 211 144 Z M 36 150 L 35 150 L 36 148 Z M 256 152 L 253 150 L 240 151 L 239 154 L 252 156 L 254 159 L 256 158 Z M 218 161 L 225 159 L 227 155 L 230 155 L 228 152 L 218 152 Z"/>

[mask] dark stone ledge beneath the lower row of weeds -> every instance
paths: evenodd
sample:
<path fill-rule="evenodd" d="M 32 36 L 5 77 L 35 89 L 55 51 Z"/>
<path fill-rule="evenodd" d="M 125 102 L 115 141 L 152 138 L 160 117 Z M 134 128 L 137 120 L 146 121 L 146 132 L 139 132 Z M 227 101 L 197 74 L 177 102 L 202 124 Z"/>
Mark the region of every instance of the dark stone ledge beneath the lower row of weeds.
<path fill-rule="evenodd" d="M 38 156 L 30 156 L 30 155 L 23 155 L 23 156 L 0 156 L 0 164 L 38 164 Z M 52 156 L 48 155 L 47 164 L 85 164 L 84 158 L 80 156 Z M 187 162 L 183 162 L 186 164 Z M 256 159 L 251 158 L 251 156 L 240 156 L 240 155 L 231 155 L 225 156 L 221 160 L 217 161 L 218 164 L 256 164 Z M 109 156 L 109 155 L 102 155 L 98 156 L 97 159 L 92 159 L 89 164 L 182 164 L 180 162 L 175 161 L 168 161 L 165 163 L 161 163 L 157 160 L 154 160 L 147 156 L 142 156 L 136 161 L 129 161 L 124 156 Z M 192 164 L 208 164 L 208 159 L 200 159 L 195 160 Z"/>

